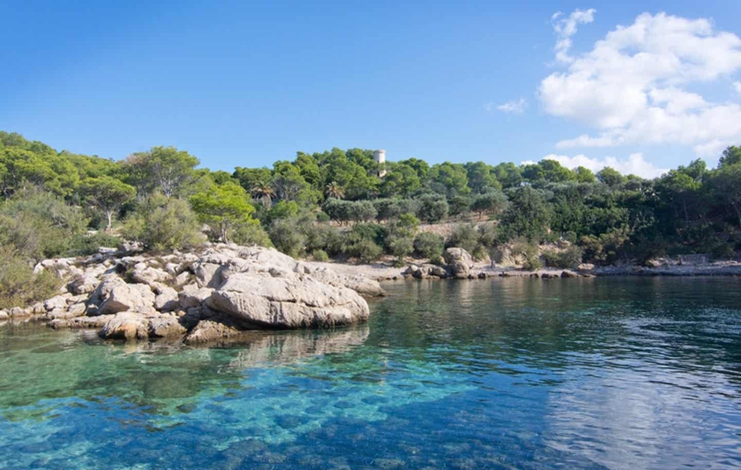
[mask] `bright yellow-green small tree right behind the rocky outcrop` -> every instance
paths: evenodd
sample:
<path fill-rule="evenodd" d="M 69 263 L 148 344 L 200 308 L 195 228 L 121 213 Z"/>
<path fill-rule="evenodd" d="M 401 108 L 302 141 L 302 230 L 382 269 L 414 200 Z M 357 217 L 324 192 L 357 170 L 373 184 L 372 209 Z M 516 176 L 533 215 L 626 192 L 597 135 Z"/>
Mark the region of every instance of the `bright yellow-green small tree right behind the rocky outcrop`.
<path fill-rule="evenodd" d="M 255 221 L 252 218 L 255 208 L 247 192 L 233 183 L 215 185 L 207 192 L 190 196 L 190 205 L 200 221 L 210 226 L 216 238 L 224 243 L 229 243 L 231 229 Z"/>

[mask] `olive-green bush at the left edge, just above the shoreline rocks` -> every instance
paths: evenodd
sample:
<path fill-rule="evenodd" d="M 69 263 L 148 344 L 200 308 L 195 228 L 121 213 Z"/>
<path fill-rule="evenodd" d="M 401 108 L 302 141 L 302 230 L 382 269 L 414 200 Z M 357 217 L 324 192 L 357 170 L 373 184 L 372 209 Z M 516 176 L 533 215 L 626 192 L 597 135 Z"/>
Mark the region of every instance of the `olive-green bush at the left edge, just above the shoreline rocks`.
<path fill-rule="evenodd" d="M 51 298 L 62 285 L 53 272 L 34 274 L 28 261 L 10 246 L 0 247 L 0 259 L 0 309 Z"/>

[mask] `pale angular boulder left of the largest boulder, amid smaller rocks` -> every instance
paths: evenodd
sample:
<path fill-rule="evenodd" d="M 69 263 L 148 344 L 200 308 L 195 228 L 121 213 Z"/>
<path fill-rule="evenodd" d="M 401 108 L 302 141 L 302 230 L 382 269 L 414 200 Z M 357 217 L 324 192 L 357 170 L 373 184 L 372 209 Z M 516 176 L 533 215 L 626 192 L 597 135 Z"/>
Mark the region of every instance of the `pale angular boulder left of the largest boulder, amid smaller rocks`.
<path fill-rule="evenodd" d="M 87 304 L 87 315 L 118 312 L 153 312 L 155 295 L 146 284 L 127 284 L 112 276 L 97 287 Z"/>

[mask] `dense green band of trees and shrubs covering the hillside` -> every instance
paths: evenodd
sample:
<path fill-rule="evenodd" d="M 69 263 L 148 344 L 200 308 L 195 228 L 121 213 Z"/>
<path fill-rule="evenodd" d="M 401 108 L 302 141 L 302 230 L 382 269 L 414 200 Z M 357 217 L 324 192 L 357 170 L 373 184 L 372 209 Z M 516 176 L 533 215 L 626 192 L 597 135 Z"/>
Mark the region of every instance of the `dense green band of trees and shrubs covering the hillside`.
<path fill-rule="evenodd" d="M 338 148 L 231 173 L 199 164 L 174 147 L 111 161 L 0 132 L 0 251 L 8 260 L 0 295 L 24 301 L 53 285 L 30 283 L 42 258 L 123 239 L 155 251 L 208 238 L 317 260 L 387 254 L 398 263 L 409 255 L 439 261 L 445 246 L 495 257 L 506 245 L 529 267 L 543 258 L 562 266 L 693 252 L 729 258 L 741 248 L 735 146 L 717 168 L 695 160 L 652 180 L 552 160 L 518 167 L 417 158 L 387 162 L 380 178 L 372 150 Z M 459 224 L 447 239 L 419 230 L 446 221 Z M 473 224 L 480 221 L 491 223 Z M 539 256 L 537 245 L 548 242 L 569 249 Z"/>

